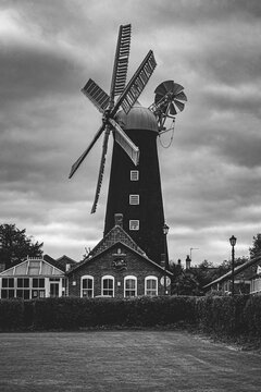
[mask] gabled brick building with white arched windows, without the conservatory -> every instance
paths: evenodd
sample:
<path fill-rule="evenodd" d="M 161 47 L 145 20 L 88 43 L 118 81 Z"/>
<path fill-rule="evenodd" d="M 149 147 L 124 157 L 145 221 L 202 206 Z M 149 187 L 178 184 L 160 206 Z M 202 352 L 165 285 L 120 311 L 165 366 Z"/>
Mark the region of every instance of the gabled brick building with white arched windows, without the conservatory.
<path fill-rule="evenodd" d="M 115 215 L 115 225 L 67 278 L 70 296 L 129 297 L 170 294 L 172 273 L 147 257 Z"/>

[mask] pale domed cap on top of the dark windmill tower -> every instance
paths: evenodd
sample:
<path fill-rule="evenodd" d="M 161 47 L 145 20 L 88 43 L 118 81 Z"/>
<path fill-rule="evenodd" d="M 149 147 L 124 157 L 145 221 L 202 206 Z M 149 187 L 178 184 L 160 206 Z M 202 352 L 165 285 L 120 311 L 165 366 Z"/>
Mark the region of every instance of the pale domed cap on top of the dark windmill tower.
<path fill-rule="evenodd" d="M 119 111 L 116 121 L 124 130 L 146 130 L 159 133 L 154 114 L 138 103 L 129 110 L 128 114 L 123 110 Z"/>

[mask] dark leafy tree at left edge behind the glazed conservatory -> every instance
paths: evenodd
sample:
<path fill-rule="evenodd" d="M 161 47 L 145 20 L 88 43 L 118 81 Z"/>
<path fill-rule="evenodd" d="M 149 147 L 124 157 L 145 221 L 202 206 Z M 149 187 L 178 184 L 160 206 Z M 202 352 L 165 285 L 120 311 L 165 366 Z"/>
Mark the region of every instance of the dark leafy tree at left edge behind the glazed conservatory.
<path fill-rule="evenodd" d="M 18 230 L 15 224 L 0 225 L 0 262 L 5 268 L 15 266 L 29 257 L 40 257 L 44 243 L 33 243 L 32 237 L 26 236 L 25 229 Z"/>

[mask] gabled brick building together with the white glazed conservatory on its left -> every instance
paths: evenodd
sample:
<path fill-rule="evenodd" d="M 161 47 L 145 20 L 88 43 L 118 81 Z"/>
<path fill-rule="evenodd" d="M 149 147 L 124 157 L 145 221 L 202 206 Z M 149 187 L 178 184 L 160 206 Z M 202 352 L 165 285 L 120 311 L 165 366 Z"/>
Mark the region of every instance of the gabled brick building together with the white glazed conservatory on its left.
<path fill-rule="evenodd" d="M 151 238 L 153 241 L 153 238 Z M 67 256 L 27 258 L 0 272 L 0 298 L 132 297 L 171 294 L 172 273 L 123 229 L 123 216 L 80 262 Z"/>

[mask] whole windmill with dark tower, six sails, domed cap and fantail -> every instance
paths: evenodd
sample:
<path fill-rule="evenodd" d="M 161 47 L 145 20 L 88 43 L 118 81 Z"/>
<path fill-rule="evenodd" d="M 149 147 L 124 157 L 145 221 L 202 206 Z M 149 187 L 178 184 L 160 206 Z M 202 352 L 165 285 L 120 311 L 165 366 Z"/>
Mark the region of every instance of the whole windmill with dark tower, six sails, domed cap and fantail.
<path fill-rule="evenodd" d="M 160 264 L 162 254 L 165 254 L 166 261 L 169 258 L 166 237 L 163 234 L 165 220 L 157 137 L 165 132 L 165 121 L 172 119 L 174 122 L 175 114 L 184 109 L 186 96 L 181 85 L 166 81 L 157 87 L 154 102 L 150 108 L 141 107 L 137 99 L 157 63 L 150 50 L 125 86 L 129 47 L 130 25 L 120 26 L 110 95 L 92 79 L 82 89 L 102 113 L 102 124 L 88 148 L 73 164 L 70 177 L 104 133 L 91 209 L 91 213 L 95 212 L 104 172 L 109 134 L 112 132 L 114 144 L 104 234 L 114 226 L 114 215 L 122 213 L 123 229 L 150 259 Z"/>

